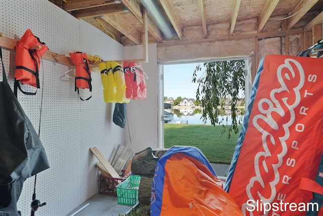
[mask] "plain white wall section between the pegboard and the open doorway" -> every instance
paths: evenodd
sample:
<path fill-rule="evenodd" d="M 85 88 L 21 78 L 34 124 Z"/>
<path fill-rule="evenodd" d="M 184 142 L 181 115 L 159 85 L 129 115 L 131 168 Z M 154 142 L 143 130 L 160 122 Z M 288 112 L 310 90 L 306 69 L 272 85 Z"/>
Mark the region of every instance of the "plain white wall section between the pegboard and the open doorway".
<path fill-rule="evenodd" d="M 129 122 L 125 127 L 125 142 L 134 145 L 133 152 L 139 152 L 147 147 L 157 148 L 157 128 L 158 128 L 158 112 L 157 112 L 157 94 L 158 94 L 158 74 L 157 74 L 157 46 L 156 44 L 148 45 L 148 63 L 141 63 L 145 73 L 148 75 L 146 79 L 147 98 L 146 100 L 131 100 L 127 104 L 127 117 Z M 124 47 L 124 58 L 135 59 L 142 58 L 143 46 Z"/>

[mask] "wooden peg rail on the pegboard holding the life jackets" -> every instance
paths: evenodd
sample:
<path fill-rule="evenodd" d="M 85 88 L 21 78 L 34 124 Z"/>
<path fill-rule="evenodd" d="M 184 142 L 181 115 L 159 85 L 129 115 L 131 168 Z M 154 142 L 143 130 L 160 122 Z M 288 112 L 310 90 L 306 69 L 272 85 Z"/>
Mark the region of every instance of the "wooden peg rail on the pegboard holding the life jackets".
<path fill-rule="evenodd" d="M 5 33 L 0 33 L 0 46 L 3 49 L 15 50 L 17 42 L 18 42 L 18 40 L 6 37 Z M 39 46 L 33 46 L 30 49 L 39 49 L 39 48 L 40 48 Z M 54 53 L 54 52 L 51 52 L 51 51 L 47 50 L 46 53 L 42 56 L 42 58 L 46 59 L 46 60 L 49 60 L 49 61 L 58 62 L 58 63 L 64 64 L 64 65 L 75 66 L 75 64 L 71 60 L 71 57 L 69 57 L 67 54 L 57 54 L 57 53 Z M 145 59 L 114 60 L 114 61 L 118 62 L 119 64 L 121 64 L 122 61 L 127 61 L 127 62 L 146 62 Z M 91 72 L 100 73 L 98 65 L 100 63 L 102 63 L 102 62 L 104 62 L 104 61 L 97 62 L 95 64 L 90 64 Z"/>

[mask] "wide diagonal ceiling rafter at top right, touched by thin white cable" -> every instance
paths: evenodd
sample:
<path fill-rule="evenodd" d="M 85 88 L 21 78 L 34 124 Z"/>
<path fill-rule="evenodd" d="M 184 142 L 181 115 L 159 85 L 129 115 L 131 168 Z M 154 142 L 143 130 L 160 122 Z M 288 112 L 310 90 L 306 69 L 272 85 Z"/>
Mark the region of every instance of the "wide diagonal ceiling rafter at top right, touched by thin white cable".
<path fill-rule="evenodd" d="M 286 20 L 286 28 L 291 29 L 317 2 L 318 0 L 301 0 L 300 3 L 291 12 L 291 15 L 296 13 L 297 14 Z"/>

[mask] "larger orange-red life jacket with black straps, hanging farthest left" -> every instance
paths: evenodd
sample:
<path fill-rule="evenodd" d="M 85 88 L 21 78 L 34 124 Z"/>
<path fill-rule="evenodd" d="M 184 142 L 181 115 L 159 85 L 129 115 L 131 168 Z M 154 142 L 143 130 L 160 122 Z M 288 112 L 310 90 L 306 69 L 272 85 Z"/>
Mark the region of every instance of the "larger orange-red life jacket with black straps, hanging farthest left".
<path fill-rule="evenodd" d="M 30 49 L 40 45 L 40 49 Z M 28 28 L 16 45 L 16 70 L 15 70 L 15 93 L 18 87 L 26 95 L 35 95 L 21 90 L 18 80 L 23 84 L 29 84 L 37 89 L 40 88 L 38 71 L 40 59 L 49 50 L 39 38 L 34 36 Z"/>

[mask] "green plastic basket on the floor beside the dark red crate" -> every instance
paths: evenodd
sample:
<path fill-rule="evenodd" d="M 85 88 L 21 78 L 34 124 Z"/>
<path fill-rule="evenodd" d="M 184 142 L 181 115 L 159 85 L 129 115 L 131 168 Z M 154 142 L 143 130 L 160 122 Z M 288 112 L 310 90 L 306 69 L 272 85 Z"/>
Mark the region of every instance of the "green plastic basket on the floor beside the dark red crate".
<path fill-rule="evenodd" d="M 140 176 L 130 175 L 124 182 L 116 186 L 118 203 L 135 205 L 138 202 Z"/>

